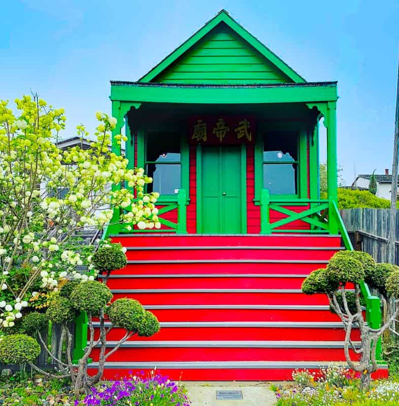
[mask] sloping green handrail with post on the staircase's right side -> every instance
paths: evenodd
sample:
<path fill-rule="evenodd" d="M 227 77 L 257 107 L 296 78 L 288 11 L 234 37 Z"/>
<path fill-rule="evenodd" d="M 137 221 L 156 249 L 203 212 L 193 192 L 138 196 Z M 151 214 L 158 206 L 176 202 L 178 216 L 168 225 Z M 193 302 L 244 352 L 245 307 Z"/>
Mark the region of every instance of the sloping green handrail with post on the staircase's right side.
<path fill-rule="evenodd" d="M 348 251 L 353 251 L 352 243 L 349 239 L 348 231 L 346 230 L 345 224 L 342 220 L 338 206 L 336 202 L 333 202 L 334 215 L 338 223 L 338 229 L 341 232 L 341 238 L 344 243 L 345 248 Z M 378 296 L 373 296 L 370 292 L 367 283 L 360 282 L 361 294 L 366 302 L 366 321 L 371 328 L 379 328 L 382 323 L 382 313 L 381 313 L 381 299 Z M 382 348 L 381 339 L 379 339 L 376 349 L 376 356 L 378 360 L 382 360 Z"/>

